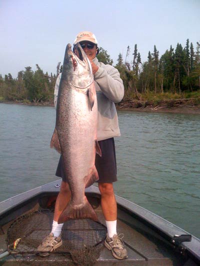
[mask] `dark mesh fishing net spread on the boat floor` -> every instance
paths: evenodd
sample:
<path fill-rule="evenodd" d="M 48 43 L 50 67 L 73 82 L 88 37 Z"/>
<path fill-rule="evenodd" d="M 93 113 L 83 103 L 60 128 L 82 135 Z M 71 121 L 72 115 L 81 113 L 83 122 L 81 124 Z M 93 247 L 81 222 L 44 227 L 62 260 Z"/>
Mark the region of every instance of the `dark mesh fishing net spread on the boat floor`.
<path fill-rule="evenodd" d="M 53 252 L 39 253 L 37 247 L 50 233 L 52 221 L 49 210 L 16 219 L 7 230 L 8 252 L 20 265 L 94 265 L 106 228 L 89 219 L 69 220 L 62 227 L 62 245 Z"/>

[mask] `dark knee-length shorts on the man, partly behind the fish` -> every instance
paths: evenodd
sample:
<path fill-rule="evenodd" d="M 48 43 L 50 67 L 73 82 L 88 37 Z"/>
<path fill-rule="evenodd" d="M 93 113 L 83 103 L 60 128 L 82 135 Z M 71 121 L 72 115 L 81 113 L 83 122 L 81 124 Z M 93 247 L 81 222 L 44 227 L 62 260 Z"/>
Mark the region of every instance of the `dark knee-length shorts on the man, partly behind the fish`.
<path fill-rule="evenodd" d="M 96 154 L 95 167 L 98 172 L 98 183 L 112 183 L 117 181 L 116 178 L 116 156 L 114 139 L 105 139 L 98 141 L 101 149 L 101 157 Z M 62 181 L 68 182 L 64 172 L 62 156 L 59 158 L 57 170 L 55 172 L 57 177 L 61 177 Z"/>

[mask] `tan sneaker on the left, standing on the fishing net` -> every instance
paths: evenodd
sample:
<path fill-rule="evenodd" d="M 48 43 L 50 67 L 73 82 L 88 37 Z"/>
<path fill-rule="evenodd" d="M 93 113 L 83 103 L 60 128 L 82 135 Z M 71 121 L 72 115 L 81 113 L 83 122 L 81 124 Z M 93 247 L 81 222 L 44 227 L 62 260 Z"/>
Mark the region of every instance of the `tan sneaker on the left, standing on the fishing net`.
<path fill-rule="evenodd" d="M 38 246 L 37 251 L 38 252 L 51 252 L 54 251 L 55 249 L 59 248 L 62 245 L 62 240 L 59 237 L 53 237 L 53 233 L 50 233 L 45 239 L 43 239 L 41 245 Z M 47 255 L 42 255 L 39 254 L 40 256 L 48 256 Z"/>

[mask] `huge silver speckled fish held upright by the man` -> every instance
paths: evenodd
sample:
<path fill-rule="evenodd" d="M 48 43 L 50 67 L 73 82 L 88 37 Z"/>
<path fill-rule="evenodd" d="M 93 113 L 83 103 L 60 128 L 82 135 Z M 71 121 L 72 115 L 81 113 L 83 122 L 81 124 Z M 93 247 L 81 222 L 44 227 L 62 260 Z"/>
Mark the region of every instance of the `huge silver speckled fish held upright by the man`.
<path fill-rule="evenodd" d="M 92 219 L 97 216 L 84 194 L 98 180 L 95 153 L 101 155 L 96 141 L 97 100 L 91 64 L 79 44 L 76 54 L 67 44 L 58 89 L 56 123 L 50 147 L 63 158 L 71 199 L 58 223 L 69 219 Z"/>

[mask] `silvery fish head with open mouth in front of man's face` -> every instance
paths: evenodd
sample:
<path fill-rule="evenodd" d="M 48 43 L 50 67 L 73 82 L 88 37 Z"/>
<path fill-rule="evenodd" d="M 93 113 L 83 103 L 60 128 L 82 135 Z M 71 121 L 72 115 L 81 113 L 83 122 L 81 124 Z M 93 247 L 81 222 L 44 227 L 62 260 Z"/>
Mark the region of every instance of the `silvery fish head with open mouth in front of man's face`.
<path fill-rule="evenodd" d="M 93 72 L 89 59 L 79 43 L 71 50 L 71 44 L 66 46 L 62 78 L 67 80 L 73 87 L 84 89 L 93 82 Z"/>

